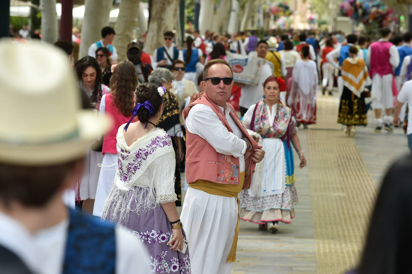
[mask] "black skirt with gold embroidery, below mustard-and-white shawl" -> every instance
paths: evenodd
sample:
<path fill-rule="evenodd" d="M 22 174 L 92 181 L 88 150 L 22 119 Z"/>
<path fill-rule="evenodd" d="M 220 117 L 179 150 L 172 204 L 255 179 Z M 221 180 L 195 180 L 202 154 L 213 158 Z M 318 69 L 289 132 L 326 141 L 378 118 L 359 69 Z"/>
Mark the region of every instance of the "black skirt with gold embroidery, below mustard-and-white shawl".
<path fill-rule="evenodd" d="M 339 104 L 337 122 L 346 126 L 361 126 L 368 124 L 366 116 L 365 93 L 356 96 L 347 87 L 343 88 Z"/>

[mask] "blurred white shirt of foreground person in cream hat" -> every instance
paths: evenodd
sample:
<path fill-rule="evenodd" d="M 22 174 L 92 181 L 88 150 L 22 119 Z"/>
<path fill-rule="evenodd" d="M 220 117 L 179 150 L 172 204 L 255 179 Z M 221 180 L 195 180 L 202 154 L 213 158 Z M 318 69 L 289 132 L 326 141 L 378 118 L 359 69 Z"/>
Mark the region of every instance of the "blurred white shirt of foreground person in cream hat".
<path fill-rule="evenodd" d="M 63 270 L 69 220 L 30 233 L 17 220 L 0 212 L 0 245 L 19 257 L 36 274 L 59 274 Z M 116 273 L 147 274 L 149 255 L 131 233 L 115 228 Z"/>

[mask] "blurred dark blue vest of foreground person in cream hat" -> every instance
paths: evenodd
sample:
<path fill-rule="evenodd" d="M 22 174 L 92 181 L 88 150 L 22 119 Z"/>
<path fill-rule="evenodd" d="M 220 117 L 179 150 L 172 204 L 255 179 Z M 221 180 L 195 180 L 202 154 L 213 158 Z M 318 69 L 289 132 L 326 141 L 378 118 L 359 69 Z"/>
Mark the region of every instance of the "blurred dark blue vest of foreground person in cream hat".
<path fill-rule="evenodd" d="M 113 225 L 70 209 L 63 274 L 115 274 Z"/>

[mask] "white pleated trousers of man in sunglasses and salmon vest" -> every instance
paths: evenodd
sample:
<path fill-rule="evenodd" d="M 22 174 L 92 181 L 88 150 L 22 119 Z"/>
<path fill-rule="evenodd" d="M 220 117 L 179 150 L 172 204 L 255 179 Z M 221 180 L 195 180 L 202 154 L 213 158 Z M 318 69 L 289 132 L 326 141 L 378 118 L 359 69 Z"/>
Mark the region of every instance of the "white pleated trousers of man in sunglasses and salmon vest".
<path fill-rule="evenodd" d="M 183 228 L 189 241 L 192 273 L 229 274 L 239 207 L 234 197 L 208 194 L 189 186 L 183 202 Z"/>

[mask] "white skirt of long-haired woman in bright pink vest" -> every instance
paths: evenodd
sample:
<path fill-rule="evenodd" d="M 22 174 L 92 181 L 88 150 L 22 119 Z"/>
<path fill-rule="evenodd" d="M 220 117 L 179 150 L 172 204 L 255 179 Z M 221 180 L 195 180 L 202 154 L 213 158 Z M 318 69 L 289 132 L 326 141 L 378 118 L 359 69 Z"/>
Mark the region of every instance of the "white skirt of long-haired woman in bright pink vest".
<path fill-rule="evenodd" d="M 104 201 L 109 196 L 110 186 L 116 176 L 117 154 L 105 153 L 97 183 L 96 198 L 94 200 L 93 215 L 103 215 Z"/>

